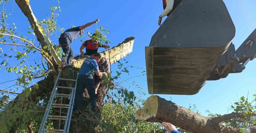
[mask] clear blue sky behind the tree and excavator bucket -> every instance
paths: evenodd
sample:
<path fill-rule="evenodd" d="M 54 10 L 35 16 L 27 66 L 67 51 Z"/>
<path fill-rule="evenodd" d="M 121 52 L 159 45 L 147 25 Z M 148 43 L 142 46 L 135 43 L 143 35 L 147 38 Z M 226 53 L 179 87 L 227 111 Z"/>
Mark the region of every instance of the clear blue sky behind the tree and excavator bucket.
<path fill-rule="evenodd" d="M 13 2 L 10 1 L 6 8 L 6 11 L 10 12 L 12 10 L 11 16 L 8 16 L 8 23 L 12 24 L 15 22 L 19 33 L 30 36 L 26 32 L 28 31 L 27 27 L 31 25 L 29 25 L 27 18 L 21 13 L 16 3 Z M 38 20 L 45 19 L 47 15 L 50 15 L 50 5 L 60 6 L 62 11 L 57 18 L 57 22 L 58 26 L 65 29 L 70 28 L 71 24 L 80 26 L 95 19 L 100 19 L 97 25 L 87 27 L 85 33 L 88 31 L 93 32 L 97 27 L 104 25 L 104 28 L 110 31 L 107 35 L 107 38 L 111 41 L 110 46 L 121 43 L 126 37 L 136 37 L 133 52 L 124 59 L 129 61 L 128 65 L 140 68 L 146 67 L 144 47 L 149 45 L 151 36 L 159 28 L 157 25 L 158 16 L 163 11 L 162 0 L 75 0 L 60 1 L 60 4 L 57 4 L 55 0 L 45 0 L 44 2 L 31 0 L 30 3 Z M 237 49 L 256 28 L 256 1 L 224 0 L 224 3 L 235 24 L 236 33 L 233 44 L 235 44 Z M 50 39 L 57 43 L 59 34 L 54 34 Z M 85 37 L 83 39 L 86 40 Z M 79 47 L 81 46 L 79 40 L 71 44 L 76 54 L 79 54 Z M 3 49 L 8 51 L 6 46 Z M 249 93 L 249 97 L 252 99 L 252 95 L 256 94 L 256 70 L 254 66 L 256 66 L 256 60 L 250 61 L 242 73 L 229 74 L 227 78 L 218 81 L 207 81 L 206 85 L 195 95 L 159 96 L 167 100 L 172 97 L 174 103 L 187 108 L 189 104 L 195 104 L 203 115 L 206 115 L 206 110 L 212 113 L 225 114 L 227 113 L 227 108 L 237 100 L 237 97 L 247 96 Z M 116 68 L 116 65 L 112 65 L 112 69 L 114 68 Z M 127 79 L 136 76 L 141 71 L 133 69 L 130 71 L 129 76 L 126 75 L 123 78 Z M 0 69 L 0 74 L 2 75 L 0 83 L 16 78 L 15 75 L 5 73 L 3 68 Z M 137 82 L 147 93 L 145 78 L 131 79 L 130 82 Z M 10 84 L 10 82 L 9 84 L 0 84 L 0 88 L 4 89 Z M 138 92 L 138 89 L 131 89 L 131 91 Z M 149 96 L 149 94 L 146 94 L 143 98 L 146 99 Z"/>

